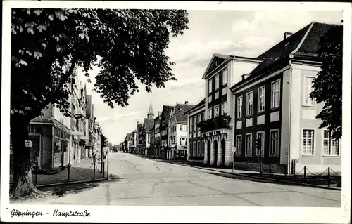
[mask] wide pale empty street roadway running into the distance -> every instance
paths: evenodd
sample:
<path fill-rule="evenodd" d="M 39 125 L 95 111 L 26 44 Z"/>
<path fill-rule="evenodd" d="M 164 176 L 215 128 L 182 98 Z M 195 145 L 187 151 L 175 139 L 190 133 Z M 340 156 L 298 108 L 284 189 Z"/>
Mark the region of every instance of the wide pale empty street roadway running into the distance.
<path fill-rule="evenodd" d="M 230 173 L 110 153 L 109 180 L 20 204 L 123 206 L 341 206 L 341 191 L 246 180 Z"/>

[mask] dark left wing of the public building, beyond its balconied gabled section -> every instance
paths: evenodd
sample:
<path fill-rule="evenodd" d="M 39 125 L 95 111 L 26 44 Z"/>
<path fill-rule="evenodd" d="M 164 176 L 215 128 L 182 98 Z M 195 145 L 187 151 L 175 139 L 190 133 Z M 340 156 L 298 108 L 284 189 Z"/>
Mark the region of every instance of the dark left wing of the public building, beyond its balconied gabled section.
<path fill-rule="evenodd" d="M 188 119 L 188 144 L 187 160 L 193 162 L 203 162 L 205 153 L 205 140 L 201 136 L 200 128 L 197 126 L 201 121 L 205 121 L 206 99 L 192 107 L 186 112 Z"/>

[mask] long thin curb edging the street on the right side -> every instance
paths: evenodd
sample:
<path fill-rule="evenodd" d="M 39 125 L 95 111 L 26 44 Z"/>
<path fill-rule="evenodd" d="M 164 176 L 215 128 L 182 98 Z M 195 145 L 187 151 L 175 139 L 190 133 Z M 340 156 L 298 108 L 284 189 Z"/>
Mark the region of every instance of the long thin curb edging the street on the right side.
<path fill-rule="evenodd" d="M 147 158 L 149 159 L 149 158 Z M 167 161 L 163 161 L 163 162 L 167 162 Z M 341 188 L 337 188 L 337 187 L 325 187 L 325 186 L 320 186 L 320 185 L 312 185 L 309 183 L 299 183 L 299 182 L 293 182 L 293 181 L 288 181 L 288 180 L 277 180 L 277 179 L 272 179 L 272 178 L 263 178 L 263 177 L 254 177 L 254 176 L 250 176 L 250 175 L 246 175 L 246 174 L 242 174 L 242 173 L 229 173 L 226 171 L 217 171 L 215 169 L 208 169 L 205 167 L 201 167 L 201 166 L 193 166 L 193 165 L 189 165 L 189 164 L 179 164 L 179 163 L 172 163 L 172 162 L 167 162 L 168 164 L 175 164 L 175 165 L 179 165 L 179 166 L 189 166 L 189 167 L 193 167 L 193 168 L 197 168 L 197 169 L 204 169 L 207 171 L 215 171 L 215 172 L 219 172 L 219 173 L 227 173 L 233 176 L 243 176 L 246 178 L 252 178 L 252 179 L 259 179 L 259 180 L 270 180 L 272 182 L 277 182 L 277 183 L 289 183 L 291 185 L 302 185 L 302 186 L 306 186 L 306 187 L 316 187 L 316 188 L 322 188 L 322 189 L 327 189 L 327 190 L 339 190 L 341 191 Z"/>

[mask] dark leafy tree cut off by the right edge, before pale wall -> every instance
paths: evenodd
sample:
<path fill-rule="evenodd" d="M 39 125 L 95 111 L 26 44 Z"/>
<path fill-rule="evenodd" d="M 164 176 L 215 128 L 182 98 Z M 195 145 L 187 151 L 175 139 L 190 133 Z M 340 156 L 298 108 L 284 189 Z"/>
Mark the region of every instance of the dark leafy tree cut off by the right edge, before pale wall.
<path fill-rule="evenodd" d="M 313 80 L 310 98 L 317 103 L 325 103 L 322 111 L 315 117 L 322 119 L 320 129 L 332 131 L 332 138 L 342 135 L 342 26 L 329 29 L 320 39 L 322 55 L 321 71 Z"/>

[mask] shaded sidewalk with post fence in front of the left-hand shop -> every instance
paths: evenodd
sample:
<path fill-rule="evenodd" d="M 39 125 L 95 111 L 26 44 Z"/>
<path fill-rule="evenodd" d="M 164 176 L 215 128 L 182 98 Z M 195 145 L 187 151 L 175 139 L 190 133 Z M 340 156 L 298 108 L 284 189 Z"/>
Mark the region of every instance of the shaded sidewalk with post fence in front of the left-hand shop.
<path fill-rule="evenodd" d="M 87 159 L 80 164 L 70 167 L 70 183 L 84 180 L 97 180 L 103 178 L 100 172 L 100 164 L 96 164 L 95 176 L 92 159 Z M 106 171 L 106 170 L 105 170 Z M 50 185 L 56 183 L 68 183 L 68 168 L 59 171 L 56 174 L 36 174 L 32 173 L 33 183 L 35 186 Z M 12 174 L 10 175 L 10 184 L 12 183 Z"/>

